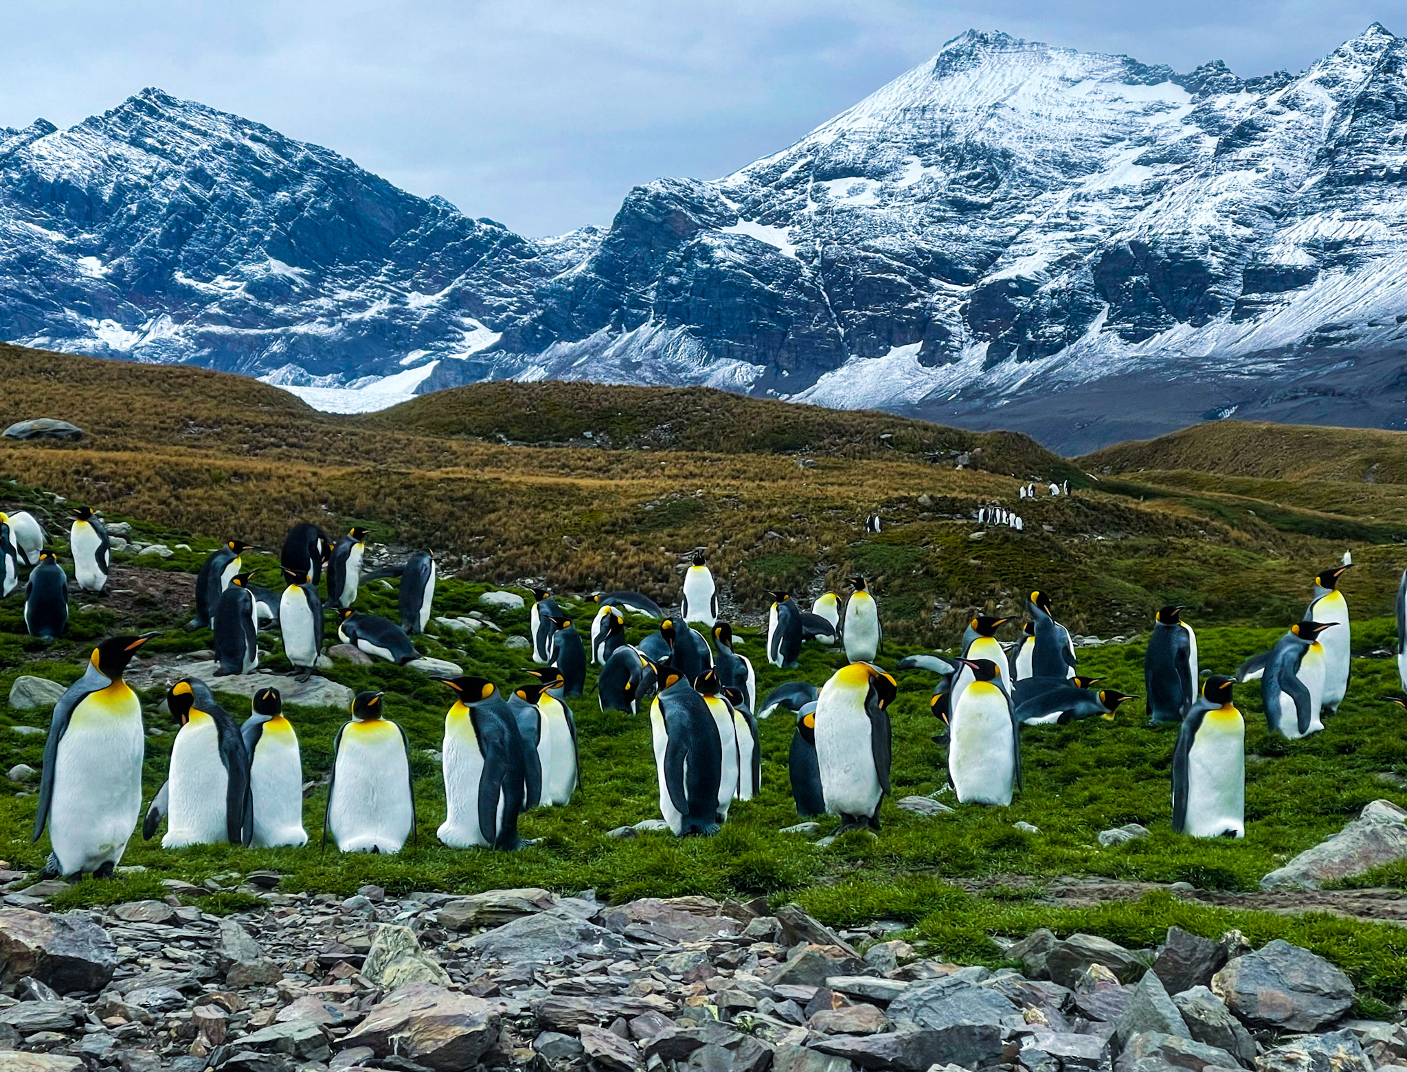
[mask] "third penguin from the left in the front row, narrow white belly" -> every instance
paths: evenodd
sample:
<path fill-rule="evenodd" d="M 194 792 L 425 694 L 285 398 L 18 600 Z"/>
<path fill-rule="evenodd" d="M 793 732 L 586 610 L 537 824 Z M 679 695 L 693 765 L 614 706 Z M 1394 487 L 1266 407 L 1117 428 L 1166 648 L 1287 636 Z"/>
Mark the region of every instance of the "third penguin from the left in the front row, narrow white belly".
<path fill-rule="evenodd" d="M 307 582 L 312 587 L 312 581 Z M 253 799 L 255 848 L 305 846 L 303 827 L 303 753 L 298 734 L 283 713 L 276 688 L 262 688 L 252 713 L 239 727 L 249 754 L 249 795 Z"/>

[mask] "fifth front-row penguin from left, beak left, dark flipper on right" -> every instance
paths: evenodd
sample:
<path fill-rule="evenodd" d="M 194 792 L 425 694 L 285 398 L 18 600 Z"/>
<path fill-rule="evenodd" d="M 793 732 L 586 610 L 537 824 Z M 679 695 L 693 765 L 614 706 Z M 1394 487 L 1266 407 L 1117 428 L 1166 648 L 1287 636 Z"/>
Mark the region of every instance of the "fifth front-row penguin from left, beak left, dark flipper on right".
<path fill-rule="evenodd" d="M 491 681 L 445 682 L 457 699 L 445 716 L 445 822 L 439 840 L 452 848 L 521 848 L 523 743 L 518 720 Z"/>

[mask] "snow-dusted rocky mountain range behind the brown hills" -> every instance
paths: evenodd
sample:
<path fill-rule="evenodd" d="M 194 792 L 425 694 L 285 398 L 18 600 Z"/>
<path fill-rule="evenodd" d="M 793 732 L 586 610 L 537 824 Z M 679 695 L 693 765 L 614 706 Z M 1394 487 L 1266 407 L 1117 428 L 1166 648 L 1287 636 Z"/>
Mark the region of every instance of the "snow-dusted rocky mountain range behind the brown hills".
<path fill-rule="evenodd" d="M 706 384 L 1088 449 L 1407 426 L 1407 39 L 1190 73 L 967 32 L 796 143 L 526 239 L 159 90 L 0 129 L 0 338 L 333 411 Z"/>

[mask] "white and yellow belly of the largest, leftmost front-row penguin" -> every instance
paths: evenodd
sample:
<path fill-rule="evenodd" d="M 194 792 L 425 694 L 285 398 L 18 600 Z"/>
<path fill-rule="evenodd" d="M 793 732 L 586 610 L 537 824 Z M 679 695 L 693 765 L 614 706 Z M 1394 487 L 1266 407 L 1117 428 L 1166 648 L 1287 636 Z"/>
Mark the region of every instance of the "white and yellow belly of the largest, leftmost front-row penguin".
<path fill-rule="evenodd" d="M 118 864 L 142 809 L 142 706 L 127 685 L 86 696 L 53 761 L 49 841 L 65 875 Z"/>

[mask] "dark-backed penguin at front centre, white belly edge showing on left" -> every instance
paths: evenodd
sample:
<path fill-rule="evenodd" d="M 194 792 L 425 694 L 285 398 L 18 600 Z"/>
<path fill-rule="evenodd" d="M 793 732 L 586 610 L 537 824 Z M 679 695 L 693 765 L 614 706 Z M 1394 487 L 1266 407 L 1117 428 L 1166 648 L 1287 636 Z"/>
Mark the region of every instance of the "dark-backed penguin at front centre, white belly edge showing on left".
<path fill-rule="evenodd" d="M 660 691 L 650 705 L 660 815 L 675 837 L 719 831 L 723 744 L 704 698 L 674 667 L 658 670 Z"/>

